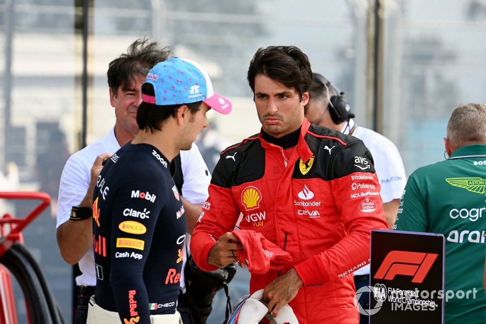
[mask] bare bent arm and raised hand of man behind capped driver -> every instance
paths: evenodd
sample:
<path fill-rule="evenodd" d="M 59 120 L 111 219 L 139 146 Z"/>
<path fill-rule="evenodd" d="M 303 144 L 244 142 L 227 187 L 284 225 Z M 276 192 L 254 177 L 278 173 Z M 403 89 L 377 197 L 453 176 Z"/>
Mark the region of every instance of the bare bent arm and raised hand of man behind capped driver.
<path fill-rule="evenodd" d="M 103 169 L 102 162 L 111 154 L 104 153 L 96 157 L 91 167 L 91 181 L 86 196 L 78 207 L 93 205 L 93 191 L 98 175 Z M 63 259 L 69 264 L 76 264 L 93 246 L 93 220 L 88 218 L 82 221 L 68 220 L 57 228 L 57 245 Z"/>

